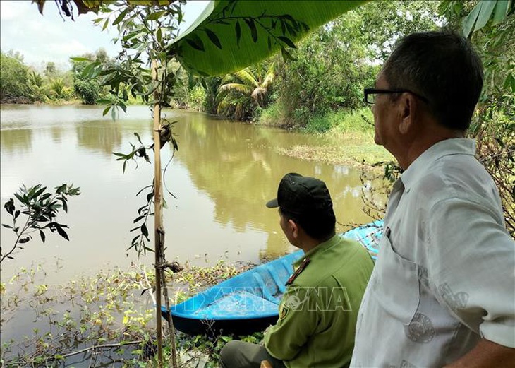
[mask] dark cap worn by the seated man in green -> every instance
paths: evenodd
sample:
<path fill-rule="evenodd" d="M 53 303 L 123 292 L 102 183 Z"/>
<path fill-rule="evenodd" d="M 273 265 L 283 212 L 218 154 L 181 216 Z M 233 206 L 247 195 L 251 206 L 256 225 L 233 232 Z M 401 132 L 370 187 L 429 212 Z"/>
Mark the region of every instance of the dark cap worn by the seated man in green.
<path fill-rule="evenodd" d="M 277 198 L 267 202 L 269 208 L 281 208 L 293 215 L 332 212 L 332 200 L 325 182 L 296 172 L 284 175 Z"/>

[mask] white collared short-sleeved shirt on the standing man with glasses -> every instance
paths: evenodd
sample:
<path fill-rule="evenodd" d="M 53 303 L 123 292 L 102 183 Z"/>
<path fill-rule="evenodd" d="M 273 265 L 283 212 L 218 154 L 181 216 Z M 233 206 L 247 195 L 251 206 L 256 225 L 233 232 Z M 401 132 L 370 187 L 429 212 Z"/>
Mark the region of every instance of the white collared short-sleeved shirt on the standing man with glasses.
<path fill-rule="evenodd" d="M 351 367 L 442 367 L 515 348 L 515 242 L 475 142 L 441 141 L 394 184 Z"/>

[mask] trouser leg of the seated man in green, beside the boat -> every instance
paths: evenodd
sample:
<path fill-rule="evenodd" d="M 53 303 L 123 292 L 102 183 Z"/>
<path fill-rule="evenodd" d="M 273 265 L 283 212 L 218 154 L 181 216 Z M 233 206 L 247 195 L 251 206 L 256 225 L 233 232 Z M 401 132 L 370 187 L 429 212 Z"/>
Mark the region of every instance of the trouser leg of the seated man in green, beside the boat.
<path fill-rule="evenodd" d="M 232 340 L 224 345 L 220 352 L 224 368 L 260 368 L 262 360 L 268 360 L 274 368 L 284 368 L 282 360 L 269 355 L 262 345 Z"/>

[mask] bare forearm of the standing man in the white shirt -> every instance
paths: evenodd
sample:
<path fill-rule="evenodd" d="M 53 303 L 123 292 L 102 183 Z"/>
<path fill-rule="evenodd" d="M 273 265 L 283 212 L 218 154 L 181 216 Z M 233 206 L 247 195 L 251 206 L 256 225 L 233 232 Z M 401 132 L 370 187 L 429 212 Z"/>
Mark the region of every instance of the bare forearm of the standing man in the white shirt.
<path fill-rule="evenodd" d="M 514 348 L 507 348 L 483 338 L 470 352 L 445 368 L 511 368 L 514 363 Z"/>

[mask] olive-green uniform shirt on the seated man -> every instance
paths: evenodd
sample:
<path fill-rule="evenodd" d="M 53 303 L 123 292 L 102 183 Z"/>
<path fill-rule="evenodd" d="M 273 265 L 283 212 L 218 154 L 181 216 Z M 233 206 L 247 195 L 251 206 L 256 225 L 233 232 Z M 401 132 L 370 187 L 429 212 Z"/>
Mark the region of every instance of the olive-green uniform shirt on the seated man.
<path fill-rule="evenodd" d="M 339 235 L 293 263 L 301 272 L 286 287 L 277 324 L 265 332 L 269 354 L 289 368 L 348 366 L 373 266 L 365 248 Z"/>

